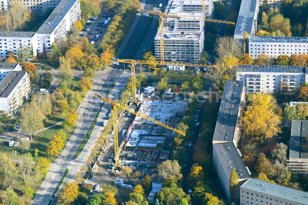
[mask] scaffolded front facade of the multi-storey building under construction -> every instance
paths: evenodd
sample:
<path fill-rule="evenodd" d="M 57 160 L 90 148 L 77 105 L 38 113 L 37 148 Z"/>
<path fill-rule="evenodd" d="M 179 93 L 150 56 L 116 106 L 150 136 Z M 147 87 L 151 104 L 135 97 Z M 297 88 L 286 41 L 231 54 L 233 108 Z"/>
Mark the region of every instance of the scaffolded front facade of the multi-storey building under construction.
<path fill-rule="evenodd" d="M 155 39 L 155 57 L 160 61 L 160 33 Z M 164 54 L 166 62 L 199 63 L 204 46 L 204 32 L 164 31 Z"/>

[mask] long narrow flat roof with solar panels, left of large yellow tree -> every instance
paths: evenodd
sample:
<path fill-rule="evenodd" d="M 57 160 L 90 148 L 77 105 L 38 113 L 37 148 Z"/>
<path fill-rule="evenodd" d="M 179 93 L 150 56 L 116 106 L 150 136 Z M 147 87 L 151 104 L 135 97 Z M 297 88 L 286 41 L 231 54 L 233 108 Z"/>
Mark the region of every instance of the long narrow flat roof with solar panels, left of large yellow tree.
<path fill-rule="evenodd" d="M 232 142 L 236 130 L 244 81 L 227 80 L 222 94 L 213 141 Z"/>

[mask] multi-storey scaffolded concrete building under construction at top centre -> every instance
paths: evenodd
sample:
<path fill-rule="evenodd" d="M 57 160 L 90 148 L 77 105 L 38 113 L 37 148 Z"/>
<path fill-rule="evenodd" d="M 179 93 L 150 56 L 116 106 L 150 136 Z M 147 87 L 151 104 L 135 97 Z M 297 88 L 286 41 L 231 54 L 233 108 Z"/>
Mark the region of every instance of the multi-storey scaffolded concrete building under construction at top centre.
<path fill-rule="evenodd" d="M 205 12 L 202 10 L 202 0 L 169 0 L 165 9 L 167 13 L 183 18 L 164 18 L 164 35 L 158 29 L 154 39 L 156 59 L 162 60 L 163 47 L 160 44 L 163 38 L 164 61 L 199 63 L 204 46 L 204 18 L 212 17 L 213 0 L 206 1 Z"/>

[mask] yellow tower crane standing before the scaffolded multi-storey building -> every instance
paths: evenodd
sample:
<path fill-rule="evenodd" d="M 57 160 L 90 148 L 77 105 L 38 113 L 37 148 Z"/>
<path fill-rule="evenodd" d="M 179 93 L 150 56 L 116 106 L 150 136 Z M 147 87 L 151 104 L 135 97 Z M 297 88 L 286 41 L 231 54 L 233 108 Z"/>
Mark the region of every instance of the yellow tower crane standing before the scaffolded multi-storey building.
<path fill-rule="evenodd" d="M 204 17 L 196 17 L 196 16 L 189 16 L 189 15 L 177 15 L 177 14 L 170 14 L 170 13 L 163 13 L 160 11 L 146 11 L 146 10 L 141 10 L 140 12 L 145 13 L 145 14 L 153 14 L 153 15 L 158 15 L 159 16 L 159 33 L 160 33 L 160 60 L 162 62 L 165 61 L 165 52 L 164 52 L 164 23 L 163 19 L 165 17 L 169 18 L 188 18 L 192 20 L 200 20 L 200 21 L 207 21 L 207 22 L 217 22 L 217 23 L 227 23 L 227 24 L 233 24 L 235 25 L 234 22 L 232 21 L 224 21 L 224 20 L 217 20 L 217 19 L 212 19 L 212 18 L 205 18 L 205 1 L 202 1 L 202 10 L 204 12 Z"/>

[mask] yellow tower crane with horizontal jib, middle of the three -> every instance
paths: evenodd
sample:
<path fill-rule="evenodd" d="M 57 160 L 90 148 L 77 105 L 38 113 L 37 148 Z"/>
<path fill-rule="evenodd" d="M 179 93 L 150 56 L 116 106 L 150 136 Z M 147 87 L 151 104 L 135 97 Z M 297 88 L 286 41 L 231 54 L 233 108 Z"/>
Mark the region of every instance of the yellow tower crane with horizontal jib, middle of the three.
<path fill-rule="evenodd" d="M 181 63 L 181 62 L 164 62 L 164 61 L 145 61 L 145 60 L 133 60 L 133 59 L 117 59 L 111 58 L 113 62 L 122 62 L 131 64 L 131 73 L 132 73 L 132 103 L 137 104 L 136 98 L 136 74 L 135 74 L 135 65 L 139 64 L 156 64 L 160 66 L 192 66 L 192 67 L 217 67 L 216 65 L 209 64 L 196 64 L 196 63 Z"/>

